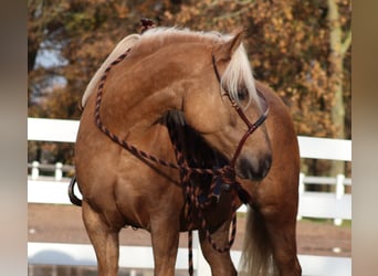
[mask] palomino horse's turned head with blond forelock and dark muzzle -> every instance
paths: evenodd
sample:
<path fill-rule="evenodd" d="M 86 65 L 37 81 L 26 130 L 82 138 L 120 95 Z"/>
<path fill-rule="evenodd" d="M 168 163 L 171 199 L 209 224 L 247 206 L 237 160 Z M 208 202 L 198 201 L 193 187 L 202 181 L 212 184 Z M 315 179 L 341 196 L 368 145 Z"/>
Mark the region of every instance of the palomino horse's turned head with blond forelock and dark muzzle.
<path fill-rule="evenodd" d="M 269 136 L 264 125 L 248 132 L 267 107 L 255 89 L 242 36 L 219 36 L 210 47 L 185 51 L 196 61 L 186 76 L 182 110 L 187 124 L 234 166 L 240 178 L 260 180 L 271 167 Z"/>

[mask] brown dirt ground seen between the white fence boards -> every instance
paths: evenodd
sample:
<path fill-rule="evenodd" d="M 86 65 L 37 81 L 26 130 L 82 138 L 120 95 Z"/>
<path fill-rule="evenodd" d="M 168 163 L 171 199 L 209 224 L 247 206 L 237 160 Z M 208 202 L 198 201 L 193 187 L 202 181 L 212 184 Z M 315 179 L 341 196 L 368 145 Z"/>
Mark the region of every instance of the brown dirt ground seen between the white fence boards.
<path fill-rule="evenodd" d="M 245 220 L 238 219 L 238 233 L 232 250 L 241 250 Z M 350 226 L 335 226 L 332 222 L 297 222 L 297 247 L 301 255 L 351 256 Z M 29 242 L 90 243 L 81 209 L 74 205 L 28 204 Z M 148 232 L 124 229 L 122 245 L 150 245 Z M 180 247 L 187 247 L 187 234 L 180 236 Z"/>

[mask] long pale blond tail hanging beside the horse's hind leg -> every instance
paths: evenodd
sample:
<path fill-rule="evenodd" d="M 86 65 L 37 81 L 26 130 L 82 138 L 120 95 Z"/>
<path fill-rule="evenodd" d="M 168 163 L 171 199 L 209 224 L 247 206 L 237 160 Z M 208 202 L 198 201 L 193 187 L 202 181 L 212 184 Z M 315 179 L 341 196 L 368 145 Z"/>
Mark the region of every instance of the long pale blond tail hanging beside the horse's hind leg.
<path fill-rule="evenodd" d="M 246 216 L 239 275 L 277 275 L 272 243 L 262 215 L 253 208 L 249 208 Z"/>

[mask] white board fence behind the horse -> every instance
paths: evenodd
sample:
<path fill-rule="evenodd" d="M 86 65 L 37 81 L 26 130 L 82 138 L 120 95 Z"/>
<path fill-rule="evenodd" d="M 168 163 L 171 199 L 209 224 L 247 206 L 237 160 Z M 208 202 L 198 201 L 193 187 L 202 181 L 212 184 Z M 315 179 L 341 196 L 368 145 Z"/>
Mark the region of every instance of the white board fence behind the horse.
<path fill-rule="evenodd" d="M 28 140 L 74 142 L 78 121 L 28 118 Z M 298 137 L 302 158 L 330 159 L 351 161 L 351 141 L 340 139 Z M 56 163 L 53 167 L 41 167 L 38 162 L 30 164 L 31 176 L 28 180 L 28 202 L 71 204 L 67 198 L 69 179 L 63 177 L 64 170 L 71 167 Z M 54 171 L 53 178 L 40 177 L 40 170 Z M 307 183 L 336 185 L 335 193 L 308 192 Z M 339 225 L 342 220 L 351 220 L 351 195 L 345 193 L 345 185 L 351 180 L 344 176 L 336 178 L 300 176 L 301 217 L 334 219 Z M 245 206 L 239 212 L 245 212 Z M 197 275 L 211 275 L 209 266 L 201 255 L 199 246 L 193 252 Z M 240 252 L 231 252 L 233 262 L 238 264 Z M 136 257 L 137 256 L 137 257 Z M 351 259 L 346 257 L 321 257 L 300 255 L 303 275 L 351 275 Z M 51 265 L 95 265 L 95 254 L 91 245 L 73 245 L 56 243 L 28 243 L 29 264 Z M 120 267 L 153 268 L 150 247 L 120 246 Z M 180 248 L 177 269 L 187 268 L 187 250 Z"/>

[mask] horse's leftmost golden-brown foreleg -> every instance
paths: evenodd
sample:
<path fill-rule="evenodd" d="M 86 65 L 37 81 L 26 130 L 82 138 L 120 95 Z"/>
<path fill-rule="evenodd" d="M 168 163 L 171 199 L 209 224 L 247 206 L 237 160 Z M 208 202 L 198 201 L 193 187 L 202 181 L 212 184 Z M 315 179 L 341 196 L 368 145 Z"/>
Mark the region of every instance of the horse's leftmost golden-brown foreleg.
<path fill-rule="evenodd" d="M 119 230 L 111 229 L 91 205 L 83 201 L 83 221 L 96 252 L 99 276 L 116 276 L 118 272 Z"/>

